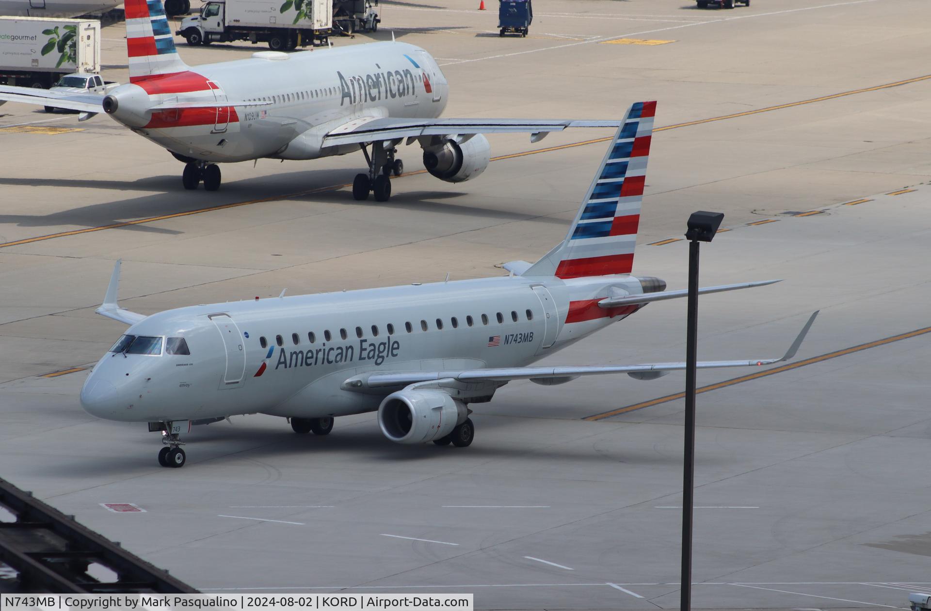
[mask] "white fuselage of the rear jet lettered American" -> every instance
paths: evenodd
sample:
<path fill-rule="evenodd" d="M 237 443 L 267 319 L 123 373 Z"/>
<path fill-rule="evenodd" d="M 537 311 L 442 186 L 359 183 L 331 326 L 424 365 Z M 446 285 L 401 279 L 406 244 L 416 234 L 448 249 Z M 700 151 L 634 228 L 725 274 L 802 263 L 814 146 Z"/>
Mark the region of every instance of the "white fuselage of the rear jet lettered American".
<path fill-rule="evenodd" d="M 209 162 L 263 157 L 315 159 L 358 151 L 323 147 L 347 122 L 381 117 L 435 118 L 447 83 L 418 46 L 371 43 L 299 53 L 262 51 L 189 72 L 117 87 L 115 120 L 173 153 Z M 149 110 L 161 102 L 229 100 L 221 108 Z M 265 102 L 236 106 L 236 101 Z"/>

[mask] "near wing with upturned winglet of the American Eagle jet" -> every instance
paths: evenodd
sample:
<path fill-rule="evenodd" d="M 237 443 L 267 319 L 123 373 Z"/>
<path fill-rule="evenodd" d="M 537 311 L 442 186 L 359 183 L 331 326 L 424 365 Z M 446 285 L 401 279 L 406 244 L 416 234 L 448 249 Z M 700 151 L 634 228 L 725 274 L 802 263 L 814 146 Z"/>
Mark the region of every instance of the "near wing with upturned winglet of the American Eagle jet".
<path fill-rule="evenodd" d="M 779 358 L 749 359 L 746 361 L 699 361 L 699 369 L 720 367 L 744 367 L 750 365 L 773 365 L 788 361 L 798 352 L 808 329 L 815 322 L 818 312 L 809 317 L 802 331 L 789 346 L 789 350 Z M 403 371 L 360 374 L 343 383 L 346 391 L 365 392 L 368 389 L 397 387 L 417 382 L 452 379 L 460 382 L 509 382 L 514 379 L 575 378 L 578 376 L 597 376 L 600 374 L 626 373 L 634 378 L 659 378 L 670 371 L 685 369 L 685 363 L 644 363 L 639 365 L 588 365 L 565 367 L 496 367 L 487 369 L 466 369 L 460 371 Z M 653 375 L 651 375 L 653 374 Z"/>

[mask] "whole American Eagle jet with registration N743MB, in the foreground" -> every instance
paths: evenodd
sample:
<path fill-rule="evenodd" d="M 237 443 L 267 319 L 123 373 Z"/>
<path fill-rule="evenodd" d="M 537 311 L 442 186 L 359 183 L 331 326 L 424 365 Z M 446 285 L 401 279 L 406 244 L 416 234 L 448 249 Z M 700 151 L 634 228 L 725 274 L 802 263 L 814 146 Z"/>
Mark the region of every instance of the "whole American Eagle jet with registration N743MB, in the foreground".
<path fill-rule="evenodd" d="M 626 373 L 656 379 L 684 363 L 531 366 L 647 303 L 683 297 L 631 275 L 655 102 L 630 107 L 565 239 L 507 276 L 128 312 L 116 301 L 116 262 L 104 316 L 129 326 L 81 390 L 90 414 L 163 432 L 163 466 L 185 461 L 192 423 L 261 412 L 294 432 L 331 432 L 333 418 L 378 412 L 398 444 L 466 446 L 468 405 L 513 379 L 552 385 Z M 709 286 L 702 293 L 776 280 Z M 794 356 L 815 316 L 781 358 L 700 362 L 770 365 Z"/>

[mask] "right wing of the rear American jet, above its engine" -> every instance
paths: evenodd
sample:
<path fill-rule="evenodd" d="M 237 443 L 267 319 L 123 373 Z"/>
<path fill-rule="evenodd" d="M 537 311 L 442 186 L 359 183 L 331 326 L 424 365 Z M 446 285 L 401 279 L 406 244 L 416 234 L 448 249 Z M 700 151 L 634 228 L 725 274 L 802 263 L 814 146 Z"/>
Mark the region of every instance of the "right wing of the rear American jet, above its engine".
<path fill-rule="evenodd" d="M 323 137 L 324 146 L 372 142 L 420 136 L 530 133 L 537 142 L 551 131 L 566 127 L 617 127 L 620 121 L 576 121 L 573 119 L 394 119 L 365 117 L 338 126 Z M 410 143 L 410 142 L 409 142 Z"/>

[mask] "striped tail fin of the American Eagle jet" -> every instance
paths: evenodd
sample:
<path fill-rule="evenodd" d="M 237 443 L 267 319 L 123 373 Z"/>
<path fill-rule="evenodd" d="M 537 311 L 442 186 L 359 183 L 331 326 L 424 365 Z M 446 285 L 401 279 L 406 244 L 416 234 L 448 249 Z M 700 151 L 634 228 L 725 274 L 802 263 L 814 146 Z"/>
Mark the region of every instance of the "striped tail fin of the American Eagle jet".
<path fill-rule="evenodd" d="M 655 111 L 655 101 L 627 110 L 569 233 L 520 275 L 578 278 L 631 271 Z"/>

